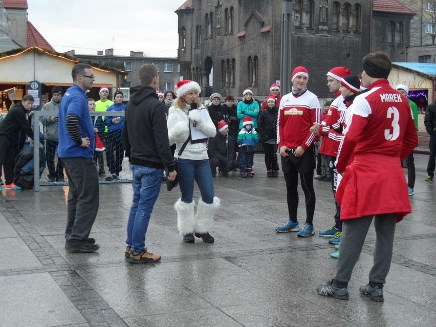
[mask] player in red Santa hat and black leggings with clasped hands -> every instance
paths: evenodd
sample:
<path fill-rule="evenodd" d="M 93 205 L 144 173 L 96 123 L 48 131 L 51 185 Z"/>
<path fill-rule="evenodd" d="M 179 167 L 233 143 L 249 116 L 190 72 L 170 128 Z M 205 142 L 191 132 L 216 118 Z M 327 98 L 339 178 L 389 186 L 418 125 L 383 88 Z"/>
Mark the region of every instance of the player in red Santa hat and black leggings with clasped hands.
<path fill-rule="evenodd" d="M 315 233 L 315 135 L 310 132 L 310 127 L 314 122 L 320 123 L 321 106 L 316 95 L 307 90 L 309 72 L 306 68 L 295 68 L 291 80 L 292 92 L 281 98 L 277 119 L 277 143 L 286 182 L 289 221 L 275 230 L 279 233 L 298 231 L 297 236 L 309 237 Z M 306 199 L 306 223 L 301 229 L 297 220 L 298 175 Z"/>

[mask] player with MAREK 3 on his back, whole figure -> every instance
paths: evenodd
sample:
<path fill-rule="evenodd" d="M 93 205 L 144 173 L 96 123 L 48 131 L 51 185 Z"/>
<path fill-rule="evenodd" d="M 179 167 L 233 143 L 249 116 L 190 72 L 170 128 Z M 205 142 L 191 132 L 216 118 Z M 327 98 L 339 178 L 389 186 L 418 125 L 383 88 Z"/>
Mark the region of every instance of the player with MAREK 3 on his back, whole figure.
<path fill-rule="evenodd" d="M 362 80 L 369 90 L 348 109 L 352 115 L 336 161 L 343 176 L 336 192 L 343 221 L 336 276 L 316 290 L 320 295 L 348 298 L 348 281 L 374 218 L 374 265 L 369 284 L 360 288 L 360 294 L 383 301 L 395 224 L 411 212 L 401 160 L 415 148 L 418 136 L 407 99 L 387 81 L 392 67 L 389 58 L 376 52 L 362 61 Z"/>

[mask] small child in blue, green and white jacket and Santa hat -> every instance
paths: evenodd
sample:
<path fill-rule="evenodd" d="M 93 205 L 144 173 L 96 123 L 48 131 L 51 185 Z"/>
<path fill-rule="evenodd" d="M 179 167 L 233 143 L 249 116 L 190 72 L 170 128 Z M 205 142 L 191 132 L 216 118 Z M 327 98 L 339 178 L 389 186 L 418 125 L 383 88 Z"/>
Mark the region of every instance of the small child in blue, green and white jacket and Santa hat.
<path fill-rule="evenodd" d="M 259 136 L 250 116 L 244 118 L 243 127 L 237 135 L 239 146 L 239 168 L 241 177 L 253 177 L 254 150 Z"/>

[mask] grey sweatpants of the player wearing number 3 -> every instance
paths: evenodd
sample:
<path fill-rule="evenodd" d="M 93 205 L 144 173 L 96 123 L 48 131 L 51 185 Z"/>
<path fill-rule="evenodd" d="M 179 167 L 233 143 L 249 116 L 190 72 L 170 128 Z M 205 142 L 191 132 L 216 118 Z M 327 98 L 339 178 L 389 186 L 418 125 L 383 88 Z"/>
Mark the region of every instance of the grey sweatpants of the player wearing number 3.
<path fill-rule="evenodd" d="M 344 283 L 350 281 L 351 273 L 359 258 L 373 217 L 375 217 L 374 227 L 377 239 L 374 251 L 374 265 L 369 272 L 369 281 L 385 284 L 394 247 L 397 213 L 364 216 L 343 222 L 335 280 Z"/>

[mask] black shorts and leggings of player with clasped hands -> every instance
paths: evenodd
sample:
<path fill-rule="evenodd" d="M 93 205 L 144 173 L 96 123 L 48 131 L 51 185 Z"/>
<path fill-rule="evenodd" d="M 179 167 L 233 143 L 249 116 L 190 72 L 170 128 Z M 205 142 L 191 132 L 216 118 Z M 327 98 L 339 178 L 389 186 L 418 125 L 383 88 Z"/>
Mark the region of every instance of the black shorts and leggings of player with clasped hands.
<path fill-rule="evenodd" d="M 315 164 L 315 155 L 312 148 L 309 148 L 304 154 L 295 158 L 293 154 L 289 157 L 281 157 L 281 170 L 285 176 L 286 196 L 288 202 L 289 219 L 297 221 L 298 210 L 298 175 L 301 180 L 301 188 L 306 200 L 306 222 L 313 223 L 315 212 L 315 190 L 313 189 L 313 166 Z"/>

